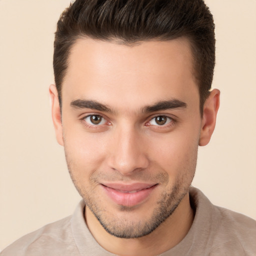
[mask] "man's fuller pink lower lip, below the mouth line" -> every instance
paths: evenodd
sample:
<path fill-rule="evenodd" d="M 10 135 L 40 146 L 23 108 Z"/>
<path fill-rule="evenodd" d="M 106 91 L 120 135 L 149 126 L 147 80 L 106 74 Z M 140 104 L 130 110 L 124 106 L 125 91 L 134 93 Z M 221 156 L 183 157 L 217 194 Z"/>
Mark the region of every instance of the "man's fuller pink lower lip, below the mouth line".
<path fill-rule="evenodd" d="M 156 185 L 153 185 L 151 187 L 139 190 L 134 193 L 125 193 L 121 192 L 119 190 L 101 185 L 103 189 L 105 190 L 106 194 L 117 204 L 123 205 L 123 206 L 135 206 L 144 200 L 146 200 L 152 190 L 156 187 Z"/>

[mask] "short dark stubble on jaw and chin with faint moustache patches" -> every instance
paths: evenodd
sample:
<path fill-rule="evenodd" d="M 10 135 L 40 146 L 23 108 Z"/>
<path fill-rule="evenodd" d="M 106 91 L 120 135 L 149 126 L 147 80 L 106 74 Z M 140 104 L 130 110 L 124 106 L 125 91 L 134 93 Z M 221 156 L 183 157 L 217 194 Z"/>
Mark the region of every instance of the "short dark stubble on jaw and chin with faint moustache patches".
<path fill-rule="evenodd" d="M 66 155 L 70 177 L 77 191 L 83 198 L 86 205 L 85 207 L 89 208 L 105 231 L 120 238 L 138 238 L 145 236 L 155 230 L 175 211 L 191 185 L 196 167 L 196 159 L 197 150 L 195 157 L 190 159 L 190 164 L 187 164 L 188 168 L 186 167 L 187 169 L 185 168 L 185 170 L 181 171 L 183 175 L 179 176 L 178 180 L 176 180 L 172 187 L 169 187 L 168 191 L 162 192 L 148 220 L 131 220 L 130 218 L 118 218 L 116 215 L 110 214 L 109 211 L 100 204 L 100 198 L 94 196 L 96 192 L 93 189 L 88 191 L 86 187 L 79 185 L 79 180 L 73 175 L 72 171 L 75 167 L 68 160 Z M 97 171 L 95 170 L 93 173 L 97 173 Z M 168 180 L 168 174 L 165 172 L 159 173 L 157 176 L 161 176 L 162 180 Z M 90 181 L 91 180 L 93 180 L 93 178 L 90 178 Z M 95 178 L 95 182 L 96 180 L 97 178 Z M 127 212 L 127 215 L 132 210 L 133 207 L 119 205 L 119 211 Z"/>

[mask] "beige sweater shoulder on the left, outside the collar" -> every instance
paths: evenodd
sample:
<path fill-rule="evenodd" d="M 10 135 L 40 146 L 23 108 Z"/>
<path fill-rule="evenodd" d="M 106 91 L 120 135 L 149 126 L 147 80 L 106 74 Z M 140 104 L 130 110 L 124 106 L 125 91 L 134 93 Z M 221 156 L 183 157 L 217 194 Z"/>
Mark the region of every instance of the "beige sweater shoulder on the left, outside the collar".
<path fill-rule="evenodd" d="M 0 256 L 16 255 L 17 252 L 20 256 L 64 255 L 63 249 L 66 253 L 68 248 L 75 247 L 70 219 L 71 216 L 65 217 L 22 236 L 6 247 Z"/>

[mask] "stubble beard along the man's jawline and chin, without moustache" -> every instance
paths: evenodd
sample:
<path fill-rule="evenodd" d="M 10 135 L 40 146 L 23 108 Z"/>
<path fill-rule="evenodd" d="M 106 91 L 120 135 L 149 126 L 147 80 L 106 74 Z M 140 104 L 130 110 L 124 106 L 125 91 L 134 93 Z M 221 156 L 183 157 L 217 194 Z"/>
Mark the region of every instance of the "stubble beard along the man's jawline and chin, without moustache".
<path fill-rule="evenodd" d="M 100 200 L 91 198 L 93 191 L 86 192 L 84 188 L 77 185 L 73 175 L 69 171 L 72 181 L 83 198 L 86 207 L 94 214 L 101 226 L 111 235 L 120 238 L 138 238 L 145 236 L 155 230 L 163 221 L 165 221 L 179 205 L 185 194 L 188 192 L 189 184 L 181 186 L 182 183 L 174 185 L 169 192 L 161 194 L 161 199 L 156 203 L 156 206 L 148 220 L 139 219 L 131 220 L 129 218 L 117 218 L 116 215 L 107 213 L 107 209 L 100 208 Z M 192 177 L 191 177 L 192 181 Z M 132 207 L 119 206 L 119 211 L 131 212 Z"/>

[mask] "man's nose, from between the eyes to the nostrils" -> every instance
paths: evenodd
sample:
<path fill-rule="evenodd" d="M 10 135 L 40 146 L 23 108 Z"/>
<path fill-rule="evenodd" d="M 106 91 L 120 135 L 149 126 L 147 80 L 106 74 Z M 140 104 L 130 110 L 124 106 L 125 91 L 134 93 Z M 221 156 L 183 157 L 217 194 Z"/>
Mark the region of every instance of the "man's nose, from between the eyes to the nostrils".
<path fill-rule="evenodd" d="M 109 167 L 119 171 L 122 175 L 130 175 L 135 170 L 146 168 L 149 161 L 143 135 L 132 127 L 118 130 L 116 128 L 113 132 L 109 147 Z"/>

